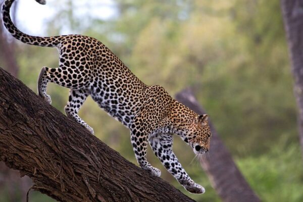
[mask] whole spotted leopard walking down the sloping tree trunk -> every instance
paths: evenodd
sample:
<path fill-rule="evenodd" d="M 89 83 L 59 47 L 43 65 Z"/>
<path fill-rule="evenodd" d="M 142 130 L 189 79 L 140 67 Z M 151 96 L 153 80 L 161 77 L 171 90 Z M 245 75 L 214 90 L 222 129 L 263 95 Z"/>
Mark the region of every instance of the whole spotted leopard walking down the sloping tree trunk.
<path fill-rule="evenodd" d="M 45 5 L 45 0 L 35 0 Z M 208 115 L 198 115 L 179 103 L 159 85 L 146 85 L 137 78 L 102 42 L 83 35 L 52 37 L 31 36 L 12 22 L 10 8 L 15 0 L 6 0 L 2 9 L 4 26 L 12 36 L 26 44 L 56 47 L 59 67 L 42 67 L 37 81 L 38 95 L 52 104 L 46 93 L 49 82 L 70 89 L 64 111 L 92 135 L 93 129 L 78 116 L 88 96 L 110 116 L 130 129 L 130 139 L 138 165 L 155 177 L 161 171 L 146 160 L 149 143 L 163 166 L 189 192 L 200 194 L 205 188 L 195 183 L 175 156 L 174 134 L 181 137 L 195 155 L 209 152 L 211 130 Z"/>

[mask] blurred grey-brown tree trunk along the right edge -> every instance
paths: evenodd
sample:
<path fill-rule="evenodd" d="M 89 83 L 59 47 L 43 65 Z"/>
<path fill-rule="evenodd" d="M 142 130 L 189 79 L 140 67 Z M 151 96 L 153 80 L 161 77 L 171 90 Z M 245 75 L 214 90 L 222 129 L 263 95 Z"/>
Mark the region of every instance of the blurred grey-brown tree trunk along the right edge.
<path fill-rule="evenodd" d="M 284 26 L 294 77 L 294 94 L 298 106 L 298 130 L 303 152 L 303 2 L 281 1 Z"/>

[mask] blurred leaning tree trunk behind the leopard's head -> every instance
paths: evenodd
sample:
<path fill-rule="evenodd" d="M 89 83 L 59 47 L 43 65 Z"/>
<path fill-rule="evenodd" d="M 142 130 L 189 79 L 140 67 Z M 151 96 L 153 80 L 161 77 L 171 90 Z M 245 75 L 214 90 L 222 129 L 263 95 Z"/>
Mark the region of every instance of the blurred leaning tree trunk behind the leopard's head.
<path fill-rule="evenodd" d="M 176 95 L 176 99 L 197 114 L 206 114 L 200 107 L 192 91 L 188 88 Z M 238 170 L 231 154 L 219 138 L 214 125 L 209 121 L 212 138 L 209 157 L 201 161 L 214 188 L 223 201 L 252 202 L 260 201 Z"/>

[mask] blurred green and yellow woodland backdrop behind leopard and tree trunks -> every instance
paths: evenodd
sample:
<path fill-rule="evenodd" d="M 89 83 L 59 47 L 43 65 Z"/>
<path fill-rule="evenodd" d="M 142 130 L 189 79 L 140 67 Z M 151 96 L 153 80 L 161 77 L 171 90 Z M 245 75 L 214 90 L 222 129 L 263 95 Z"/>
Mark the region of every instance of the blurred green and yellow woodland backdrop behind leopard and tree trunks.
<path fill-rule="evenodd" d="M 107 45 L 144 83 L 162 85 L 171 95 L 191 87 L 259 197 L 303 201 L 297 109 L 279 1 L 17 2 L 12 15 L 25 33 L 88 35 Z M 57 50 L 23 44 L 3 27 L 0 31 L 0 66 L 36 92 L 41 67 L 58 67 Z M 64 113 L 69 90 L 49 84 L 47 91 L 52 105 Z M 127 128 L 91 98 L 79 114 L 100 140 L 137 164 Z M 199 163 L 192 161 L 192 149 L 178 137 L 174 151 L 205 194 L 188 193 L 150 149 L 148 161 L 189 197 L 221 201 Z M 25 201 L 30 179 L 3 164 L 0 168 L 0 201 Z M 30 201 L 55 200 L 30 192 Z"/>

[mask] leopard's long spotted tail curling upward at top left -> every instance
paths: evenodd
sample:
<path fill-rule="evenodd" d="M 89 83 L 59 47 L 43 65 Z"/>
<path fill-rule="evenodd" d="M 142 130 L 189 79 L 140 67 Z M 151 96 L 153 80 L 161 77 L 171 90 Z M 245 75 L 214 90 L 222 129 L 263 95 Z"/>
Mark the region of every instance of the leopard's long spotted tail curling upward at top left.
<path fill-rule="evenodd" d="M 39 4 L 45 5 L 45 0 L 35 0 Z M 39 36 L 30 36 L 21 32 L 12 22 L 10 16 L 10 9 L 15 0 L 6 0 L 2 8 L 2 18 L 4 26 L 7 30 L 18 40 L 21 40 L 24 43 L 31 45 L 38 45 L 44 47 L 56 47 L 59 44 L 58 37 L 39 37 Z"/>

